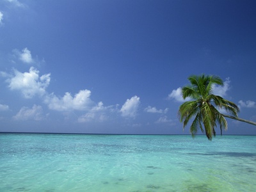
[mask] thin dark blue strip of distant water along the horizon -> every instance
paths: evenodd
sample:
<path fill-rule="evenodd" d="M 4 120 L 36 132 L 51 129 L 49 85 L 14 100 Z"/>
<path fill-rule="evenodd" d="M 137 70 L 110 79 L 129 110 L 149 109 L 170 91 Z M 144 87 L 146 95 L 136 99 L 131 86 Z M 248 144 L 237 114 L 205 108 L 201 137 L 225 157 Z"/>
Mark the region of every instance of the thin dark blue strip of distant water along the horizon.
<path fill-rule="evenodd" d="M 84 134 L 84 135 L 138 135 L 138 136 L 190 136 L 190 134 L 123 134 L 123 133 L 77 133 L 77 132 L 1 132 L 0 134 Z M 197 134 L 197 136 L 204 136 L 204 134 Z M 216 136 L 221 136 L 217 134 Z M 256 136 L 255 134 L 224 134 L 222 136 Z"/>

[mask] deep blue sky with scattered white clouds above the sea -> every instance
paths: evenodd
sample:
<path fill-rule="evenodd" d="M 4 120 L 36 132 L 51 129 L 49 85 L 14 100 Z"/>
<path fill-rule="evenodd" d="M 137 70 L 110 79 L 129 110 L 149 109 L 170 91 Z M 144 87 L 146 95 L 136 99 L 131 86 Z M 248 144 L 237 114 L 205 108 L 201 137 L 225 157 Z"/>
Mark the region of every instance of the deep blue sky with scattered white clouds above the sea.
<path fill-rule="evenodd" d="M 256 121 L 255 34 L 255 1 L 3 0 L 0 131 L 188 134 L 180 88 L 202 73 Z"/>

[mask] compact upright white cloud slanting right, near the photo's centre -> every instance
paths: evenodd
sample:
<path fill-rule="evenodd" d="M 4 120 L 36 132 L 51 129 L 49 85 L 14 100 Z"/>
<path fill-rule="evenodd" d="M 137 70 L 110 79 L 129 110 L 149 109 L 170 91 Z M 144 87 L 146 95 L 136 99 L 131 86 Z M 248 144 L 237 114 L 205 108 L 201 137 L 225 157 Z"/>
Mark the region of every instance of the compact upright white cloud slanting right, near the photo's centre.
<path fill-rule="evenodd" d="M 127 99 L 120 112 L 125 117 L 135 117 L 140 105 L 140 97 L 133 96 L 131 99 Z"/>

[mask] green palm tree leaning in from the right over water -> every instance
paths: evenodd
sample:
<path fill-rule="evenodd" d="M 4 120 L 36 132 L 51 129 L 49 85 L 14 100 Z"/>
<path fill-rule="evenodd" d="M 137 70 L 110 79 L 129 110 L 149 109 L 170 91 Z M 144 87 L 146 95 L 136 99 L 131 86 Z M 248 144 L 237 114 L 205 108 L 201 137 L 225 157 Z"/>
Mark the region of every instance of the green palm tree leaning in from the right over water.
<path fill-rule="evenodd" d="M 212 88 L 214 84 L 223 85 L 223 81 L 218 76 L 190 76 L 188 78 L 191 84 L 182 88 L 182 97 L 192 100 L 184 102 L 179 108 L 180 122 L 183 122 L 183 129 L 191 118 L 195 117 L 191 126 L 190 133 L 194 137 L 200 127 L 205 132 L 208 140 L 212 140 L 212 134 L 216 136 L 214 127 L 220 124 L 220 131 L 227 130 L 227 120 L 225 117 L 233 118 L 239 121 L 256 125 L 255 122 L 243 120 L 237 117 L 239 108 L 229 100 L 223 99 L 219 95 L 213 95 Z M 218 109 L 225 109 L 231 115 L 221 114 Z"/>

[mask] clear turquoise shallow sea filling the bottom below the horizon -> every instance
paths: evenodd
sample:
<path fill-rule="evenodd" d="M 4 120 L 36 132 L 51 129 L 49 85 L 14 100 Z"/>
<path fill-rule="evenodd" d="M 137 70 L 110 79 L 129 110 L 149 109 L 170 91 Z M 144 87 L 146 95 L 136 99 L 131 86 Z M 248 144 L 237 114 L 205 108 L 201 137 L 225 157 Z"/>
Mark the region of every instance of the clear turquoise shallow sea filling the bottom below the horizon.
<path fill-rule="evenodd" d="M 0 134 L 0 191 L 255 191 L 256 136 Z"/>

